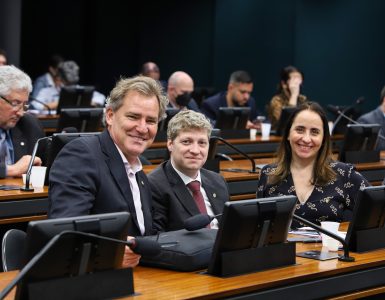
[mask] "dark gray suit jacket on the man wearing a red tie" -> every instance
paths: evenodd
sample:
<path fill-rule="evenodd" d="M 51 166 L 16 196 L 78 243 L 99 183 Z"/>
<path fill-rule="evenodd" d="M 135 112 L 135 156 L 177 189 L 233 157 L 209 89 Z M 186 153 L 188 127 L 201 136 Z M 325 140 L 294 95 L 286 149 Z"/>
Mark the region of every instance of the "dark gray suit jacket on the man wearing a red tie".
<path fill-rule="evenodd" d="M 227 184 L 215 172 L 201 169 L 202 186 L 211 203 L 214 214 L 221 214 L 229 201 Z M 148 175 L 153 199 L 153 220 L 156 229 L 171 231 L 183 229 L 184 221 L 199 214 L 199 209 L 188 188 L 170 161 L 159 165 Z"/>

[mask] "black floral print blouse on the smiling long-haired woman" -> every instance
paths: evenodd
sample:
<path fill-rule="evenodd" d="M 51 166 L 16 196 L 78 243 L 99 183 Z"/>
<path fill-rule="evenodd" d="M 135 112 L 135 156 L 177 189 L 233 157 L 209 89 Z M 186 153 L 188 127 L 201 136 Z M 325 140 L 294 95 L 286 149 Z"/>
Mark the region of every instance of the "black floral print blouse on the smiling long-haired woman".
<path fill-rule="evenodd" d="M 332 162 L 331 167 L 336 172 L 335 180 L 324 186 L 316 185 L 304 204 L 299 201 L 296 204 L 295 214 L 311 222 L 319 224 L 323 221 L 342 222 L 349 219 L 354 208 L 357 192 L 370 184 L 351 164 Z M 257 188 L 257 198 L 275 196 L 296 196 L 293 178 L 289 175 L 282 182 L 267 184 L 268 173 L 276 168 L 276 165 L 266 165 L 261 170 Z M 298 227 L 294 224 L 292 227 Z"/>

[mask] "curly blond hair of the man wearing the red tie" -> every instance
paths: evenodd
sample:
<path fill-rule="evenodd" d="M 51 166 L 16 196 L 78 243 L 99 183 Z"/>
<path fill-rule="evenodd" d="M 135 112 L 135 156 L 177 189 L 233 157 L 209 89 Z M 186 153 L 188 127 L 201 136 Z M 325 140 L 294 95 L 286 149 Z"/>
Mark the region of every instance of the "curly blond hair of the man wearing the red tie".
<path fill-rule="evenodd" d="M 209 119 L 202 113 L 182 109 L 171 118 L 167 127 L 167 139 L 175 140 L 181 131 L 189 129 L 203 129 L 207 131 L 207 137 L 210 138 L 212 126 Z"/>

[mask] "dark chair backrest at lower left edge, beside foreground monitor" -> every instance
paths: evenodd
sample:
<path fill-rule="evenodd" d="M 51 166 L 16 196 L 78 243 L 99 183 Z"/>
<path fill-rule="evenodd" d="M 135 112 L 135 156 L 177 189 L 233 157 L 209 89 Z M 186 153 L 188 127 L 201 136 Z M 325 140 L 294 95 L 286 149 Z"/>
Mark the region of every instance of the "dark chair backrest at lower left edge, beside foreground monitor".
<path fill-rule="evenodd" d="M 19 229 L 10 229 L 4 234 L 1 245 L 4 272 L 21 268 L 25 237 L 26 233 Z"/>

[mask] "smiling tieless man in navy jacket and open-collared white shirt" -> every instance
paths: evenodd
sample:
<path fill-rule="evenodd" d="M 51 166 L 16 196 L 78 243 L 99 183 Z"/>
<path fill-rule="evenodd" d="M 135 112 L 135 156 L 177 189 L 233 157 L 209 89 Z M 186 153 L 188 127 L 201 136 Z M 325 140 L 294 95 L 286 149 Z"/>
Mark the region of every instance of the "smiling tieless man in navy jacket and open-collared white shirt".
<path fill-rule="evenodd" d="M 107 128 L 66 144 L 52 164 L 48 217 L 128 211 L 130 235 L 153 234 L 150 184 L 139 155 L 154 141 L 167 103 L 154 79 L 121 79 L 107 101 Z M 123 265 L 139 258 L 126 247 Z"/>

